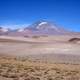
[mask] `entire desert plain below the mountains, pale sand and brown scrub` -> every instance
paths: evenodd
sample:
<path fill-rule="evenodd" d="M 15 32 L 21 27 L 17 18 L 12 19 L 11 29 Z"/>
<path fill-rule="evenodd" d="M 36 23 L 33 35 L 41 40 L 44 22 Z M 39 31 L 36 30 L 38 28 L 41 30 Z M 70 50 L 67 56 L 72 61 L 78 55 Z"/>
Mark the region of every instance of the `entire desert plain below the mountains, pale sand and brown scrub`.
<path fill-rule="evenodd" d="M 0 80 L 80 80 L 79 35 L 0 36 Z"/>

